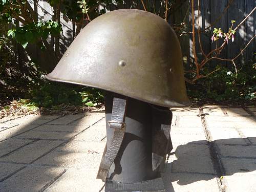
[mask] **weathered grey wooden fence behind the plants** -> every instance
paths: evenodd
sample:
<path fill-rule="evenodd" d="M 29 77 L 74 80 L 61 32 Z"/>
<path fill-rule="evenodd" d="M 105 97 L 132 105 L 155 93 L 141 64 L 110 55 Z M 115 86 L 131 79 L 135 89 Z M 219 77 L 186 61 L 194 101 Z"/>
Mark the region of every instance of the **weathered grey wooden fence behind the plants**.
<path fill-rule="evenodd" d="M 171 0 L 169 0 L 172 2 Z M 31 0 L 31 3 L 33 1 Z M 165 1 L 163 0 L 143 0 L 146 4 L 148 10 L 155 10 L 157 14 L 164 13 Z M 168 16 L 168 22 L 170 25 L 177 26 L 177 24 L 185 23 L 186 28 L 184 29 L 187 34 L 182 35 L 180 38 L 183 59 L 191 66 L 193 62 L 193 52 L 192 52 L 192 37 L 191 33 L 191 0 L 176 0 L 180 4 L 174 9 L 171 8 L 170 15 Z M 198 11 L 198 0 L 195 0 L 195 23 L 196 30 L 198 29 L 198 22 L 200 24 L 201 31 L 204 31 L 211 24 L 205 32 L 201 35 L 202 47 L 205 53 L 215 48 L 215 44 L 211 43 L 212 30 L 214 28 L 221 28 L 224 32 L 227 32 L 231 26 L 231 20 L 236 20 L 236 25 L 238 25 L 246 15 L 256 6 L 256 0 L 201 0 L 200 1 L 200 11 Z M 105 6 L 104 6 L 105 7 Z M 228 7 L 228 9 L 227 9 Z M 113 3 L 109 7 L 105 7 L 106 12 L 112 11 L 120 8 L 139 8 L 143 9 L 141 0 L 127 0 L 124 1 L 122 5 L 116 5 Z M 199 14 L 198 14 L 199 13 Z M 53 14 L 52 8 L 46 1 L 39 1 L 38 14 L 41 19 L 48 20 Z M 63 14 L 61 13 L 61 24 L 63 26 L 63 33 L 60 38 L 60 48 L 61 53 L 64 53 L 67 47 L 71 44 L 76 26 L 72 24 Z M 248 17 L 248 19 L 241 25 L 238 29 L 234 42 L 230 42 L 228 46 L 222 51 L 222 58 L 233 58 L 236 56 L 247 44 L 247 42 L 256 34 L 256 12 Z M 198 39 L 197 39 L 198 41 Z M 202 59 L 202 53 L 199 49 L 197 43 L 197 53 L 199 59 Z M 242 56 L 238 59 L 239 63 L 244 63 L 245 61 L 253 57 L 253 53 L 256 52 L 256 38 L 247 47 L 246 51 L 243 52 Z M 254 55 L 255 56 L 255 55 Z M 212 62 L 211 62 L 212 63 Z M 216 61 L 219 63 L 219 61 Z M 224 61 L 225 65 L 229 65 L 228 62 Z"/>

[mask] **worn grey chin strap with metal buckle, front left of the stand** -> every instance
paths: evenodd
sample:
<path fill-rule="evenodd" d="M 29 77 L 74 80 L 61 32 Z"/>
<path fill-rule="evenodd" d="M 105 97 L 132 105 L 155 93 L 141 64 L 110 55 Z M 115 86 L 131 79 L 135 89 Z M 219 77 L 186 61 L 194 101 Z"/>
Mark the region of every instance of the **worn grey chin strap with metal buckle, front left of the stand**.
<path fill-rule="evenodd" d="M 97 179 L 102 179 L 103 181 L 106 180 L 109 169 L 120 149 L 126 126 L 124 123 L 125 111 L 126 99 L 114 97 L 111 121 L 109 121 L 110 128 L 114 129 L 114 135 L 110 146 L 108 148 L 105 147 L 100 162 Z"/>

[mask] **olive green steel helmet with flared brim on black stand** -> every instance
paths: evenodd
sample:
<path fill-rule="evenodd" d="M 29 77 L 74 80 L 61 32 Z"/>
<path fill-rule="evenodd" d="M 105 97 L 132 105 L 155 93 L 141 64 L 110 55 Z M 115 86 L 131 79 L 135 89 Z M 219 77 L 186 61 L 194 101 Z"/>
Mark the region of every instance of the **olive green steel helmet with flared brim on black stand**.
<path fill-rule="evenodd" d="M 190 103 L 175 32 L 164 19 L 142 10 L 119 9 L 95 18 L 47 78 L 161 106 Z"/>

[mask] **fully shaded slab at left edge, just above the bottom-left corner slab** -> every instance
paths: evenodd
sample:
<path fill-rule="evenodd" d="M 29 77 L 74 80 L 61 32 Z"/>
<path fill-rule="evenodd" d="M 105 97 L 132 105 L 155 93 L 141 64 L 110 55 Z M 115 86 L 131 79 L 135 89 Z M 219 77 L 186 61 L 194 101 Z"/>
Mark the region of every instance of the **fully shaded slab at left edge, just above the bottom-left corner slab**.
<path fill-rule="evenodd" d="M 0 162 L 31 163 L 61 143 L 61 141 L 34 141 L 8 156 L 1 157 Z"/>

